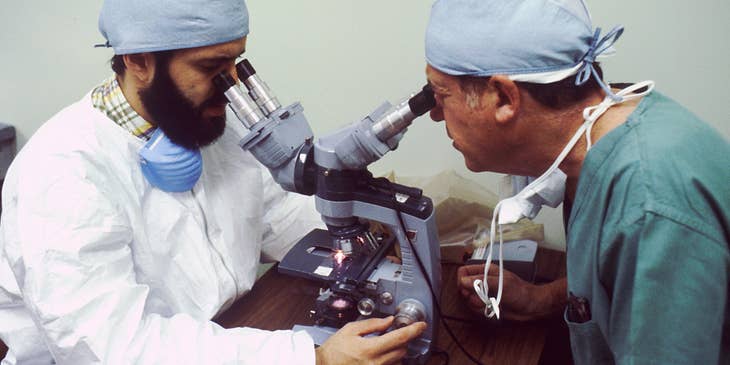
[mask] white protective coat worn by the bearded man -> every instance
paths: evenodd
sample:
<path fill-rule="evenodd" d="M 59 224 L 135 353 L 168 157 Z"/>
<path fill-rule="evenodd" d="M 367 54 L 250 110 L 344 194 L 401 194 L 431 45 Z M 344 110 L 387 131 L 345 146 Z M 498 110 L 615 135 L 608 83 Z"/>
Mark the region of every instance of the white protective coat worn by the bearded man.
<path fill-rule="evenodd" d="M 285 193 L 230 122 L 202 149 L 192 192 L 143 177 L 142 141 L 90 96 L 43 125 L 3 189 L 2 365 L 313 364 L 311 338 L 211 322 L 321 226 L 313 199 Z"/>

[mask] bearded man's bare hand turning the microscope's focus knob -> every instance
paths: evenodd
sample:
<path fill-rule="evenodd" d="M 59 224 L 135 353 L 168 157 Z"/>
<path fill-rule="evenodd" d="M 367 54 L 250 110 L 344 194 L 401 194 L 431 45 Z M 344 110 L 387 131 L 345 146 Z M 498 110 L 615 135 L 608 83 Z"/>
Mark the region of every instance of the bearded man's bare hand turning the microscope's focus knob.
<path fill-rule="evenodd" d="M 397 364 L 405 356 L 408 342 L 426 330 L 426 323 L 417 322 L 381 336 L 362 337 L 385 331 L 392 323 L 391 316 L 346 324 L 317 348 L 317 365 Z"/>

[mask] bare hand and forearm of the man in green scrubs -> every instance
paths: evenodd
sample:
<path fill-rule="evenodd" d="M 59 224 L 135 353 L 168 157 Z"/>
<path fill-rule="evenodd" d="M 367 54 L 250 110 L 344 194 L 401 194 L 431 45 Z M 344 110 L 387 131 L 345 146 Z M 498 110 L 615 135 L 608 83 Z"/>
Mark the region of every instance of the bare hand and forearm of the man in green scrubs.
<path fill-rule="evenodd" d="M 474 292 L 474 280 L 484 278 L 484 264 L 466 265 L 457 271 L 457 286 L 469 308 L 484 314 L 484 302 Z M 545 285 L 535 285 L 522 280 L 516 274 L 504 270 L 502 301 L 499 304 L 502 318 L 512 321 L 530 321 L 559 314 L 565 307 L 567 281 L 558 279 Z M 489 265 L 489 295 L 495 296 L 499 285 L 499 266 Z"/>

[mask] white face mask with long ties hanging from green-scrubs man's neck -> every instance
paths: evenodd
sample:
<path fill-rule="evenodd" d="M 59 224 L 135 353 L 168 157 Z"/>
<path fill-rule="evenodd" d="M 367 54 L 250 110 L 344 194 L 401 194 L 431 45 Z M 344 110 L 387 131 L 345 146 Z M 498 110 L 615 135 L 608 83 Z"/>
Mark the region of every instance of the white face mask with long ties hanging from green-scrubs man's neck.
<path fill-rule="evenodd" d="M 643 88 L 646 88 L 646 90 L 638 94 L 633 94 L 637 90 Z M 560 155 L 558 155 L 558 158 L 555 159 L 555 162 L 550 165 L 548 170 L 515 196 L 497 203 L 492 215 L 492 225 L 489 232 L 489 250 L 487 253 L 487 260 L 484 265 L 483 280 L 474 281 L 474 291 L 476 291 L 479 298 L 484 302 L 484 304 L 486 304 L 486 307 L 484 308 L 484 315 L 487 318 L 496 316 L 499 319 L 499 303 L 502 300 L 504 271 L 502 263 L 502 225 L 516 223 L 522 218 L 535 218 L 543 205 L 555 208 L 562 203 L 563 196 L 565 195 L 565 182 L 567 180 L 567 175 L 561 171 L 558 166 L 560 166 L 568 153 L 570 153 L 580 137 L 585 134 L 586 150 L 589 150 L 592 145 L 591 129 L 593 128 L 593 123 L 595 123 L 596 120 L 598 120 L 598 118 L 603 115 L 606 110 L 608 110 L 608 108 L 624 101 L 643 97 L 644 95 L 649 94 L 653 89 L 653 81 L 643 81 L 631 85 L 616 94 L 607 95 L 600 104 L 583 110 L 583 124 L 580 128 L 578 128 L 578 131 L 576 131 L 573 138 L 570 139 L 568 144 L 565 148 L 563 148 L 563 151 L 560 152 Z M 494 246 L 495 231 L 497 230 L 499 230 L 500 243 L 499 284 L 497 287 L 497 297 L 495 298 L 490 297 L 488 294 L 489 286 L 487 285 L 487 272 L 489 270 L 489 264 L 492 262 L 492 247 Z"/>

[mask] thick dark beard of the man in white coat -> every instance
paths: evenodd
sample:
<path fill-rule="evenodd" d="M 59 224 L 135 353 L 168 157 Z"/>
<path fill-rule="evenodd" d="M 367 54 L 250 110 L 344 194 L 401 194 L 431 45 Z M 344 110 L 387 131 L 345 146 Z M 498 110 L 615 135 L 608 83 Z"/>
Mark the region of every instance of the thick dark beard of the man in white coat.
<path fill-rule="evenodd" d="M 173 143 L 191 150 L 207 146 L 223 135 L 225 115 L 205 118 L 203 111 L 211 105 L 227 103 L 225 95 L 216 93 L 195 106 L 172 81 L 167 62 L 158 65 L 152 84 L 139 91 L 142 104 L 152 121 Z"/>

